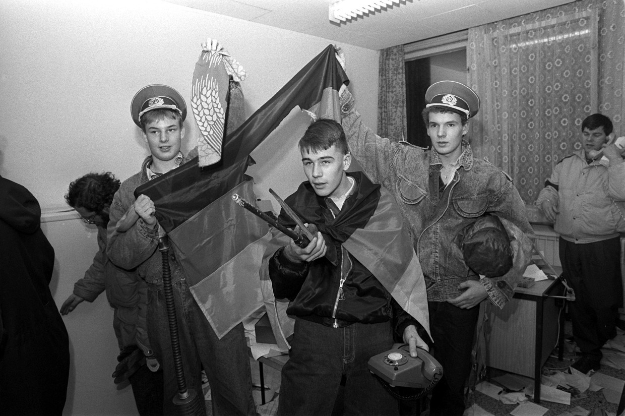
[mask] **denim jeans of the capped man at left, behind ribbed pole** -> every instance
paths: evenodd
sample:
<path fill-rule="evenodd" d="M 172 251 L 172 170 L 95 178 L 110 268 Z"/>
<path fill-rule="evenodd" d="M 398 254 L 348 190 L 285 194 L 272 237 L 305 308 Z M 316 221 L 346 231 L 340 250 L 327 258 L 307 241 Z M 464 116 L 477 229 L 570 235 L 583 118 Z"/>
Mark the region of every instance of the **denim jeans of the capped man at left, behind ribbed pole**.
<path fill-rule="evenodd" d="M 173 292 L 187 388 L 203 397 L 203 366 L 211 385 L 214 415 L 256 415 L 243 325 L 239 323 L 218 339 L 184 278 L 173 283 Z M 163 367 L 164 414 L 173 415 L 176 407 L 172 399 L 178 393 L 178 383 L 162 285 L 149 285 L 148 334 Z"/>

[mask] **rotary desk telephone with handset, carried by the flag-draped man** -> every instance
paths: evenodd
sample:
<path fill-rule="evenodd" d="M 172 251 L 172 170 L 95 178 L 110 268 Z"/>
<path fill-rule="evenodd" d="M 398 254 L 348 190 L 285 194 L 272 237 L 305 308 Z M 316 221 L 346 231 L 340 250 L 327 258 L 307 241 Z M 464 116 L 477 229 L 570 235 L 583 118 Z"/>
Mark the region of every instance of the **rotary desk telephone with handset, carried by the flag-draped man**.
<path fill-rule="evenodd" d="M 395 344 L 369 358 L 369 371 L 392 387 L 423 388 L 427 391 L 442 377 L 442 366 L 426 350 L 417 348 L 411 357 L 407 344 Z"/>

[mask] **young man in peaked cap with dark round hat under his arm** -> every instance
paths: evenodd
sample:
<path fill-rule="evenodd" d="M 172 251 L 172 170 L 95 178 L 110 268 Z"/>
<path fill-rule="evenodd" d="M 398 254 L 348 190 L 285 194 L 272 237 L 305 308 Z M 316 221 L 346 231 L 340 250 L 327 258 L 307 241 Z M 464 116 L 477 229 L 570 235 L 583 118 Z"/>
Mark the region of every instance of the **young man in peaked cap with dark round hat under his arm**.
<path fill-rule="evenodd" d="M 466 85 L 441 81 L 427 89 L 423 118 L 431 150 L 377 136 L 362 123 L 349 90 L 342 88 L 340 96 L 352 155 L 396 199 L 421 261 L 433 355 L 444 369 L 432 392 L 430 415 L 462 415 L 478 305 L 488 299 L 502 308 L 529 261 L 532 229 L 524 203 L 511 179 L 476 160 L 464 140 L 467 121 L 479 110 L 479 97 Z M 514 253 L 511 270 L 495 278 L 472 271 L 453 241 L 487 213 L 501 219 Z"/>

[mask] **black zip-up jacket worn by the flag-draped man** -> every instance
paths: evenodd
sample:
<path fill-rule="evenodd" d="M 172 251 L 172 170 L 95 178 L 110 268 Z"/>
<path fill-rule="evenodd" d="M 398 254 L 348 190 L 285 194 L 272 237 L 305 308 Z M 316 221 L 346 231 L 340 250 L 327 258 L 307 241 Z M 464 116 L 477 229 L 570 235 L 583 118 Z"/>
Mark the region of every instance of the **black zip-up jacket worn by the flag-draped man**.
<path fill-rule="evenodd" d="M 356 186 L 340 211 L 330 198 L 317 196 L 308 182 L 286 199 L 301 218 L 317 225 L 326 240 L 327 254 L 312 262 L 293 263 L 284 256 L 284 247 L 279 248 L 269 260 L 274 295 L 292 301 L 287 308 L 289 315 L 331 327 L 387 322 L 397 317 L 396 335 L 401 335 L 407 325 L 419 328 L 376 277 L 328 234 L 337 220 L 354 210 L 363 210 L 365 216 L 369 208 L 363 201 L 379 188 L 360 172 L 349 175 L 356 179 Z M 284 216 L 280 220 L 292 225 Z"/>

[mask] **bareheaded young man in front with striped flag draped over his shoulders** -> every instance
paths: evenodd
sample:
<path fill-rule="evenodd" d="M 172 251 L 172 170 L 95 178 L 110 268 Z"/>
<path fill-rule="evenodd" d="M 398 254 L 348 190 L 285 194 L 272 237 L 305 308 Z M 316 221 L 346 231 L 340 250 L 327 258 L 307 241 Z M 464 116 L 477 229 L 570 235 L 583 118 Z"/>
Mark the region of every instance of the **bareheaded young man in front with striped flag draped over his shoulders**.
<path fill-rule="evenodd" d="M 361 172 L 346 173 L 351 155 L 339 123 L 313 122 L 299 150 L 308 180 L 286 203 L 319 231 L 265 263 L 275 297 L 291 300 L 287 313 L 296 317 L 278 414 L 330 415 L 344 375 L 346 414 L 397 415 L 367 362 L 394 335 L 413 357 L 416 347 L 427 350 L 421 266 L 392 196 Z M 279 220 L 294 225 L 284 212 Z"/>

